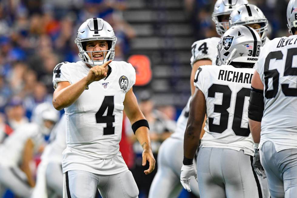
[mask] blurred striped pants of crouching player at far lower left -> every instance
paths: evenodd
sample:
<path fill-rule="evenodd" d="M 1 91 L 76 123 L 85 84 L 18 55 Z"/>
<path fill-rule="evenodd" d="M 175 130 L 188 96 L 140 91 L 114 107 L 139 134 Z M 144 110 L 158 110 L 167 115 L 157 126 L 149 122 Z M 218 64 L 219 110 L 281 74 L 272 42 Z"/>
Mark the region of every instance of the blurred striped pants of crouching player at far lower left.
<path fill-rule="evenodd" d="M 18 167 L 2 167 L 0 166 L 0 183 L 12 190 L 17 196 L 30 197 L 32 188 L 26 181 L 25 173 Z"/>

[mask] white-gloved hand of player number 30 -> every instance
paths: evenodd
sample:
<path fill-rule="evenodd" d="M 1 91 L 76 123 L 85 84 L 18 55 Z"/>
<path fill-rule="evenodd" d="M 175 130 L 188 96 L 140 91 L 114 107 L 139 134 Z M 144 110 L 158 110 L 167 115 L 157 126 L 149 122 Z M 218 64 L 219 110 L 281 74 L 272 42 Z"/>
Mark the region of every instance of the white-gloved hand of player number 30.
<path fill-rule="evenodd" d="M 194 164 L 182 165 L 182 169 L 180 173 L 180 182 L 182 183 L 182 187 L 184 187 L 185 190 L 188 190 L 188 192 L 191 192 L 191 188 L 190 188 L 191 176 L 194 176 L 196 181 L 198 182 L 197 171 Z"/>

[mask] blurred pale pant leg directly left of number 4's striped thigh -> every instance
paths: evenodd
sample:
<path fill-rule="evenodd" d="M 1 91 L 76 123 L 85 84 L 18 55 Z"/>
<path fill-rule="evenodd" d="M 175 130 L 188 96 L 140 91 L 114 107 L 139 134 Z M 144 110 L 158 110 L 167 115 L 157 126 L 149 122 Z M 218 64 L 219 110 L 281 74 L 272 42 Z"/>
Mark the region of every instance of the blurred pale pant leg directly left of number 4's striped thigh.
<path fill-rule="evenodd" d="M 46 183 L 57 195 L 63 196 L 63 172 L 60 163 L 50 162 L 46 167 Z"/>

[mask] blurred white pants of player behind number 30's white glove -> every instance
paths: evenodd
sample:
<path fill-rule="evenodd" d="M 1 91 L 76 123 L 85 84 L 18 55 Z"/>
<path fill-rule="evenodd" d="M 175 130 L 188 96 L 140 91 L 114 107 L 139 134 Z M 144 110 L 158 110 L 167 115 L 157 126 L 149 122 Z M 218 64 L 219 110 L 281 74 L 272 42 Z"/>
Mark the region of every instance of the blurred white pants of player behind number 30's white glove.
<path fill-rule="evenodd" d="M 158 171 L 149 190 L 149 198 L 173 198 L 181 192 L 183 144 L 182 139 L 169 137 L 160 146 L 157 160 Z M 199 197 L 198 183 L 194 178 L 191 179 L 190 186 L 192 193 Z"/>

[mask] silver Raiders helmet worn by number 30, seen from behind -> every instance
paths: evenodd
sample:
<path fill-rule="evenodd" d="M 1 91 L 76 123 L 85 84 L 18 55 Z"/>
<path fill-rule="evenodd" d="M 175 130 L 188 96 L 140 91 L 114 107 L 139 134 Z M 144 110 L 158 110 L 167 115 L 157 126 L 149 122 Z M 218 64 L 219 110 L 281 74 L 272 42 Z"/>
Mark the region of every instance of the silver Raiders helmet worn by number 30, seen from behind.
<path fill-rule="evenodd" d="M 262 41 L 259 34 L 245 25 L 227 30 L 218 45 L 218 56 L 223 65 L 231 62 L 257 62 Z"/>

